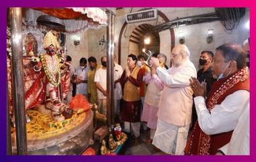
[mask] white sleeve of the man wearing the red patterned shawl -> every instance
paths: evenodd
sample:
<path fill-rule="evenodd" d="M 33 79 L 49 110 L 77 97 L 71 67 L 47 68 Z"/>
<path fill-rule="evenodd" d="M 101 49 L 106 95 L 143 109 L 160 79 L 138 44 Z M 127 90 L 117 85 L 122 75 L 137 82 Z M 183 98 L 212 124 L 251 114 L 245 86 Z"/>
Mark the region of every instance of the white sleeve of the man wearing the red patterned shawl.
<path fill-rule="evenodd" d="M 206 108 L 205 98 L 202 96 L 195 97 L 195 109 L 201 130 L 209 135 L 234 130 L 249 96 L 249 91 L 235 91 L 226 96 L 220 105 L 214 106 L 211 113 Z"/>

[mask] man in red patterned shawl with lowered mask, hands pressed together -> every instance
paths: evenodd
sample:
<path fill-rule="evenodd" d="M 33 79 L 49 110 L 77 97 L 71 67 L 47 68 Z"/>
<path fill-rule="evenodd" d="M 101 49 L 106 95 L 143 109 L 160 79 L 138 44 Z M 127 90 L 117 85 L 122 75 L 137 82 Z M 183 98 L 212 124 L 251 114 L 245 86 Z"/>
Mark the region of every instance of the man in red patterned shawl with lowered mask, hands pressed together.
<path fill-rule="evenodd" d="M 249 75 L 244 50 L 237 44 L 216 48 L 212 69 L 218 80 L 205 99 L 205 83 L 190 79 L 198 120 L 187 140 L 187 155 L 215 155 L 226 145 L 249 101 Z"/>

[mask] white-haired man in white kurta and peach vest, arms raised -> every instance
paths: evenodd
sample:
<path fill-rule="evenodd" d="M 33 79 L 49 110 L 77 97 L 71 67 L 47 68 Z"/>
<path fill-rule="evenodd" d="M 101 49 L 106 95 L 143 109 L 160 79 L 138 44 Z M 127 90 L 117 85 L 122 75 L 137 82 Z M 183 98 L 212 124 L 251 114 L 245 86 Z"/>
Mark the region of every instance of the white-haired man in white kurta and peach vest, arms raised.
<path fill-rule="evenodd" d="M 161 151 L 173 155 L 183 155 L 187 143 L 193 105 L 193 91 L 189 79 L 197 76 L 195 66 L 189 60 L 189 49 L 183 44 L 172 50 L 172 67 L 165 71 L 159 62 L 151 58 L 152 66 L 164 83 L 158 110 L 158 123 L 153 139 Z"/>

